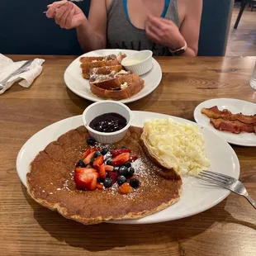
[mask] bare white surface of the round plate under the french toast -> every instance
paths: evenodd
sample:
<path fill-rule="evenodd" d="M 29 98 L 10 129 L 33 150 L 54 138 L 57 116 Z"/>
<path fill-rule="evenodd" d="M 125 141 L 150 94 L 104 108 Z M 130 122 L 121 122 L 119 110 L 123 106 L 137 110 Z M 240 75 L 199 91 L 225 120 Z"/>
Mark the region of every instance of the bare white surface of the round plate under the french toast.
<path fill-rule="evenodd" d="M 120 52 L 128 56 L 128 55 L 134 54 L 136 50 L 118 50 L 118 49 L 95 50 L 82 56 L 118 55 Z M 66 69 L 64 73 L 64 81 L 67 87 L 78 96 L 84 97 L 92 102 L 102 101 L 102 98 L 92 95 L 88 80 L 82 77 L 80 61 L 79 61 L 80 57 L 75 59 Z M 153 59 L 152 69 L 148 73 L 145 73 L 140 77 L 145 80 L 145 88 L 143 88 L 140 92 L 138 92 L 134 96 L 121 100 L 120 102 L 122 103 L 135 102 L 140 98 L 149 95 L 150 92 L 153 92 L 154 89 L 159 86 L 159 83 L 161 82 L 161 79 L 162 79 L 162 70 L 160 68 L 159 63 L 155 59 Z"/>

